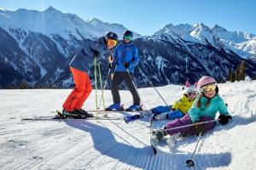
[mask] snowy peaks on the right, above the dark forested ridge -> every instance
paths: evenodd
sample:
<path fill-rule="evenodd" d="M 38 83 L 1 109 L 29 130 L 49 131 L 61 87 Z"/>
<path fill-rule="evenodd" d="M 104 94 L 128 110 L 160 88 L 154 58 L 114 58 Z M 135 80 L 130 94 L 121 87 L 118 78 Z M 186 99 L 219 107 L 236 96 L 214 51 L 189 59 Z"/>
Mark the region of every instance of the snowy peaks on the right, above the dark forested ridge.
<path fill-rule="evenodd" d="M 236 54 L 247 59 L 256 56 L 256 36 L 241 31 L 227 31 L 221 26 L 209 28 L 202 23 L 190 26 L 189 24 L 180 24 L 173 26 L 166 25 L 155 34 L 167 33 L 172 37 L 181 37 L 190 42 L 200 42 L 202 44 L 211 43 L 215 48 L 230 48 Z M 223 42 L 222 45 L 220 42 Z"/>

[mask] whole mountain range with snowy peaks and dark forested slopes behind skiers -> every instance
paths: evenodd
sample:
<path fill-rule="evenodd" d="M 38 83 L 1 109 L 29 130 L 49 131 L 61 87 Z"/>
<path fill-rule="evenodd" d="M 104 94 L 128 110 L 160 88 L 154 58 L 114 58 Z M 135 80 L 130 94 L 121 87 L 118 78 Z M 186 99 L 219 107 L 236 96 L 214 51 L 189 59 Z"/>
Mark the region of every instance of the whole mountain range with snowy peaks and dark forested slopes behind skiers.
<path fill-rule="evenodd" d="M 52 7 L 44 11 L 0 9 L 0 27 L 0 34 L 5 38 L 2 40 L 6 42 L 0 49 L 1 65 L 6 68 L 1 70 L 0 78 L 4 82 L 0 82 L 0 88 L 21 80 L 43 87 L 69 88 L 73 86 L 73 81 L 68 63 L 80 48 L 81 39 L 95 39 L 106 31 L 117 32 L 121 39 L 122 32 L 126 30 L 125 26 L 98 19 L 84 21 L 75 14 L 63 14 Z M 169 24 L 150 37 L 142 37 L 134 32 L 137 38 L 134 43 L 141 56 L 135 73 L 137 86 L 147 87 L 148 81 L 156 86 L 183 83 L 187 79 L 195 82 L 202 75 L 216 77 L 218 81 L 225 80 L 229 69 L 236 69 L 243 59 L 216 35 L 217 32 L 216 26 L 210 29 L 202 23 L 195 26 Z M 17 65 L 20 65 L 18 60 L 11 62 L 14 46 L 10 42 L 13 41 L 17 48 L 15 55 L 27 58 L 20 58 L 22 69 L 17 69 Z M 108 72 L 107 59 L 100 60 L 102 73 Z M 245 60 L 247 75 L 254 78 L 255 61 Z M 92 72 L 91 63 L 89 74 Z M 5 75 L 9 74 L 12 76 L 6 78 Z M 90 75 L 94 82 L 93 74 Z M 106 76 L 103 75 L 103 79 Z"/>

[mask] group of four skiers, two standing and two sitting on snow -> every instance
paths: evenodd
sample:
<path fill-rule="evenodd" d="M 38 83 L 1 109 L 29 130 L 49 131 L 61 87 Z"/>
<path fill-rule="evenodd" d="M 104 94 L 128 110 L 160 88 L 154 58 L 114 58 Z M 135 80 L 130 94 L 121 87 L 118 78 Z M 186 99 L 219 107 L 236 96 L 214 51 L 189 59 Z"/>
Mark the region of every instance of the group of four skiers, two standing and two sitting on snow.
<path fill-rule="evenodd" d="M 123 41 L 118 43 L 118 36 L 114 32 L 107 32 L 103 37 L 97 41 L 90 39 L 82 40 L 82 48 L 74 55 L 70 65 L 70 71 L 73 74 L 75 88 L 72 93 L 68 95 L 63 104 L 62 115 L 76 116 L 87 115 L 87 111 L 82 109 L 84 101 L 90 95 L 92 86 L 90 84 L 90 77 L 87 74 L 87 61 L 94 57 L 101 57 L 106 53 L 111 55 L 111 50 L 116 46 L 113 56 L 109 58 L 111 65 L 109 68 L 113 71 L 113 81 L 111 85 L 111 92 L 113 95 L 113 105 L 109 105 L 106 110 L 124 110 L 121 105 L 119 96 L 119 85 L 125 81 L 127 88 L 129 88 L 133 104 L 128 107 L 128 110 L 138 111 L 142 109 L 141 99 L 137 94 L 137 89 L 132 80 L 134 67 L 139 63 L 138 50 L 132 42 L 133 34 L 131 31 L 123 33 Z M 170 119 L 172 122 L 166 123 L 163 129 L 154 132 L 156 140 L 162 139 L 167 134 L 182 133 L 199 134 L 206 132 L 213 128 L 216 122 L 209 122 L 205 124 L 197 124 L 195 126 L 181 127 L 183 125 L 196 124 L 196 122 L 205 122 L 213 120 L 217 112 L 218 122 L 226 124 L 231 119 L 224 104 L 224 100 L 218 95 L 218 85 L 212 77 L 201 77 L 201 79 L 194 85 L 186 82 L 185 93 L 181 99 L 178 99 L 172 106 L 158 106 L 148 111 L 151 121 Z"/>

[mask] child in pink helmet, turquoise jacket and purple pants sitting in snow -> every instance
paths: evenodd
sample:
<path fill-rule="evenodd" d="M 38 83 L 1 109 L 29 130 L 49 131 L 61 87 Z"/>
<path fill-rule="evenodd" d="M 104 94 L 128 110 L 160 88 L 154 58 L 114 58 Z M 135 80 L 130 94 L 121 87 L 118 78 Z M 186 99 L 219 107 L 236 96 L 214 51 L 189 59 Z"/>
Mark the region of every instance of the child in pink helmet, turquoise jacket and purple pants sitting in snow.
<path fill-rule="evenodd" d="M 217 111 L 220 114 L 220 116 L 218 116 L 218 122 L 220 124 L 227 124 L 229 119 L 232 119 L 227 110 L 227 106 L 224 104 L 224 100 L 218 96 L 218 86 L 214 78 L 201 77 L 197 83 L 197 88 L 201 94 L 195 99 L 195 103 L 192 105 L 191 109 L 189 109 L 188 114 L 173 122 L 166 123 L 164 129 L 155 131 L 153 138 L 154 144 L 157 144 L 159 140 L 167 134 L 172 135 L 180 132 L 194 135 L 212 129 L 216 122 L 208 122 L 190 127 L 172 128 L 196 122 L 211 121 L 215 119 Z"/>

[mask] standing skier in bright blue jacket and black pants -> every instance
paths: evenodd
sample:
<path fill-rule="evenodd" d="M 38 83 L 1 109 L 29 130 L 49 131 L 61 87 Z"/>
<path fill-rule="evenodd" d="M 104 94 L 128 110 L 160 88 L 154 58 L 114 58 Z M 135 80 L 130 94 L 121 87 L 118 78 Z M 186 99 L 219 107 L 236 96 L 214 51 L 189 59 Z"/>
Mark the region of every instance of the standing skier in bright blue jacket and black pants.
<path fill-rule="evenodd" d="M 113 82 L 111 86 L 111 92 L 113 95 L 113 105 L 109 105 L 106 110 L 123 110 L 123 106 L 120 104 L 120 95 L 119 95 L 119 85 L 121 82 L 125 81 L 127 87 L 129 88 L 132 98 L 133 105 L 131 105 L 128 110 L 141 110 L 140 98 L 137 94 L 136 87 L 132 82 L 132 74 L 134 73 L 134 67 L 139 63 L 139 55 L 137 48 L 133 44 L 132 37 L 133 34 L 131 31 L 125 31 L 123 37 L 123 42 L 120 42 L 119 45 L 114 50 L 113 65 L 110 67 L 114 70 Z"/>

